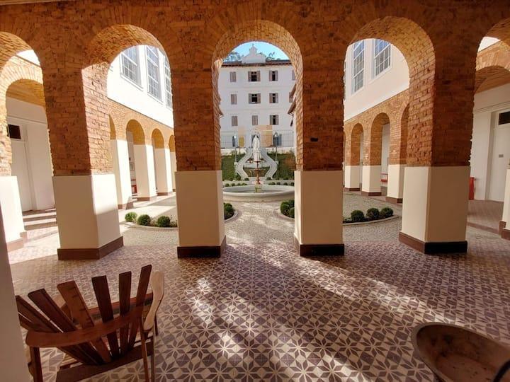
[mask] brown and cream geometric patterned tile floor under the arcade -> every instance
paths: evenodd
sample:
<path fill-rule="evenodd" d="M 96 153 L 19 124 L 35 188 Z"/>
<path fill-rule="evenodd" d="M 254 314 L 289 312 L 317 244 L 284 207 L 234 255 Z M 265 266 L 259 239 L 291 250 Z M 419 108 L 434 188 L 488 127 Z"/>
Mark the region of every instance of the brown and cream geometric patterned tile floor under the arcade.
<path fill-rule="evenodd" d="M 510 345 L 510 243 L 497 235 L 468 228 L 467 255 L 427 256 L 397 243 L 395 219 L 346 227 L 343 257 L 307 259 L 278 204 L 236 207 L 220 259 L 178 260 L 176 231 L 124 226 L 125 247 L 101 260 L 58 262 L 47 243 L 47 255 L 13 263 L 16 293 L 76 279 L 93 304 L 91 277 L 115 290 L 119 272 L 136 284 L 142 265 L 163 270 L 159 381 L 432 381 L 409 335 L 433 320 Z M 59 360 L 43 354 L 47 380 Z M 139 361 L 94 381 L 141 376 Z"/>

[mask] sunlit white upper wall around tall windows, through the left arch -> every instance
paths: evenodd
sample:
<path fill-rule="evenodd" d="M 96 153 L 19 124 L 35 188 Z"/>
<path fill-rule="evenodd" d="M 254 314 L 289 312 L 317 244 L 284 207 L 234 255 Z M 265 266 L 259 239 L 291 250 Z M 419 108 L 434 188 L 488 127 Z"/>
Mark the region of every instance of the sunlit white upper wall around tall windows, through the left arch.
<path fill-rule="evenodd" d="M 140 62 L 141 84 L 138 86 L 127 79 L 120 71 L 120 54 L 115 57 L 108 72 L 108 98 L 121 103 L 128 108 L 141 112 L 153 120 L 164 125 L 174 127 L 174 114 L 171 108 L 166 107 L 166 93 L 164 83 L 164 54 L 159 51 L 159 85 L 162 99 L 157 100 L 147 93 L 147 54 L 145 45 L 137 46 Z"/>

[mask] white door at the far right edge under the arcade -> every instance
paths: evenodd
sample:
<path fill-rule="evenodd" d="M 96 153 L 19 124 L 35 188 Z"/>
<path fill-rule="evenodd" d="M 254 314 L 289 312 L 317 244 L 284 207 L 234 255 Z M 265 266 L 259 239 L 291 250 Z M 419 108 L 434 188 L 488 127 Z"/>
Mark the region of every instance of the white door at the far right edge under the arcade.
<path fill-rule="evenodd" d="M 506 168 L 510 161 L 510 124 L 494 127 L 489 199 L 503 202 Z"/>

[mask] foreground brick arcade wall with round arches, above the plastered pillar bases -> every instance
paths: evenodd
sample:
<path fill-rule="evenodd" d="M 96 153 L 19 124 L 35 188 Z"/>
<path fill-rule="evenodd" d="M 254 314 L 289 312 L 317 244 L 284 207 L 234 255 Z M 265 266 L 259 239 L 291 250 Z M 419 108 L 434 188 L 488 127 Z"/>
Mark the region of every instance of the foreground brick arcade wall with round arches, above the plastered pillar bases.
<path fill-rule="evenodd" d="M 339 62 L 348 44 L 368 37 L 392 42 L 409 64 L 407 164 L 466 165 L 477 47 L 485 35 L 510 36 L 505 0 L 490 6 L 482 0 L 169 4 L 79 0 L 1 7 L 0 38 L 7 43 L 1 45 L 0 70 L 28 46 L 38 54 L 57 175 L 111 171 L 106 68 L 118 52 L 137 44 L 162 47 L 169 57 L 179 170 L 219 169 L 215 65 L 227 50 L 257 38 L 280 45 L 295 65 L 298 168 L 341 168 Z M 5 168 L 8 149 L 0 150 Z"/>

